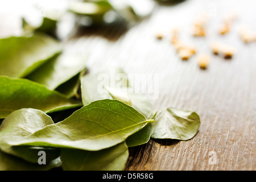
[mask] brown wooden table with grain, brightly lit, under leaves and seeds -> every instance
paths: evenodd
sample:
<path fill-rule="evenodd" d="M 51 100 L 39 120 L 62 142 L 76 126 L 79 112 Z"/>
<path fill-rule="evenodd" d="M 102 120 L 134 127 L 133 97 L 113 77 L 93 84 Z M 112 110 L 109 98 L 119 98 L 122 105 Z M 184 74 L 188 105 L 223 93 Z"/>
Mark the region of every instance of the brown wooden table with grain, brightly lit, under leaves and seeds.
<path fill-rule="evenodd" d="M 90 71 L 121 67 L 129 74 L 158 78 L 154 85 L 157 97 L 150 100 L 155 110 L 177 107 L 200 115 L 199 132 L 191 140 L 150 139 L 131 147 L 126 170 L 256 169 L 256 44 L 245 44 L 238 35 L 241 24 L 256 32 L 255 6 L 254 1 L 220 0 L 156 4 L 152 15 L 133 27 L 83 28 L 65 40 L 67 46 L 89 53 Z M 219 35 L 224 16 L 233 11 L 238 19 L 227 35 Z M 206 36 L 193 37 L 193 20 L 202 12 L 209 18 Z M 3 27 L 10 33 L 13 26 L 2 24 L 2 35 L 6 33 Z M 187 61 L 179 59 L 170 42 L 176 26 L 180 27 L 179 39 L 197 47 L 196 55 Z M 164 31 L 162 40 L 155 38 L 156 30 Z M 236 48 L 232 59 L 212 54 L 210 43 L 215 40 Z M 208 69 L 197 65 L 200 53 L 210 55 Z"/>

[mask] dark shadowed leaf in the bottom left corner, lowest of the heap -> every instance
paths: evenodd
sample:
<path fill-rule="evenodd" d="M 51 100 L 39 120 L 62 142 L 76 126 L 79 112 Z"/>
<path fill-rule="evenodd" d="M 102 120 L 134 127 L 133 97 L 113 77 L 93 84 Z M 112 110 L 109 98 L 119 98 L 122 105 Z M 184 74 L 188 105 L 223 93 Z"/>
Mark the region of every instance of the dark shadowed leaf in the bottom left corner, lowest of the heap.
<path fill-rule="evenodd" d="M 49 169 L 60 167 L 60 158 L 51 160 L 46 165 L 27 162 L 16 156 L 6 154 L 0 150 L 0 171 L 48 171 Z"/>

